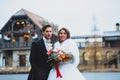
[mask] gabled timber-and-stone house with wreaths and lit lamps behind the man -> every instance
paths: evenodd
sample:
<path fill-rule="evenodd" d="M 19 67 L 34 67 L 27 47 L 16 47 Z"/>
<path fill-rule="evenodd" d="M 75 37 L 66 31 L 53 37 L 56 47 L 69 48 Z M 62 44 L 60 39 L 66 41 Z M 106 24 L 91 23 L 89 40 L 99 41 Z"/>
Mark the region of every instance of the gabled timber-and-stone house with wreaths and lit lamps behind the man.
<path fill-rule="evenodd" d="M 1 29 L 0 70 L 29 71 L 31 43 L 42 37 L 41 28 L 47 24 L 52 25 L 56 40 L 58 26 L 25 9 L 16 12 Z"/>

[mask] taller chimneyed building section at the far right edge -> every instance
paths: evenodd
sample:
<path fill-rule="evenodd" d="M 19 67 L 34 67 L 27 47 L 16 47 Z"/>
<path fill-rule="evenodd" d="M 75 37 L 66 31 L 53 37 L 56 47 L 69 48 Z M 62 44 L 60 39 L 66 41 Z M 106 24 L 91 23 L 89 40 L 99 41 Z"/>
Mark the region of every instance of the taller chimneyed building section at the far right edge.
<path fill-rule="evenodd" d="M 116 23 L 116 31 L 106 31 L 103 35 L 104 49 L 106 49 L 105 67 L 115 64 L 120 68 L 120 26 Z"/>

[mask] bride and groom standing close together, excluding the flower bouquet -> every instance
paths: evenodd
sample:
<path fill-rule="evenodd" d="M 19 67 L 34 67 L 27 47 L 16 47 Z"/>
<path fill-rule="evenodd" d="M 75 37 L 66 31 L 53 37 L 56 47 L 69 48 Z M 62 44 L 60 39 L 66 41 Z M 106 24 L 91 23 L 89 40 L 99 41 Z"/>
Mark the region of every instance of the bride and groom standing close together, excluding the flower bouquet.
<path fill-rule="evenodd" d="M 58 32 L 58 41 L 53 45 L 55 49 L 72 54 L 72 60 L 60 62 L 57 67 L 50 67 L 48 63 L 47 40 L 52 37 L 52 27 L 46 25 L 42 28 L 43 38 L 33 42 L 30 51 L 31 70 L 28 80 L 85 80 L 77 69 L 79 64 L 79 51 L 76 43 L 70 39 L 70 32 L 61 28 Z M 51 41 L 50 41 L 51 42 Z"/>

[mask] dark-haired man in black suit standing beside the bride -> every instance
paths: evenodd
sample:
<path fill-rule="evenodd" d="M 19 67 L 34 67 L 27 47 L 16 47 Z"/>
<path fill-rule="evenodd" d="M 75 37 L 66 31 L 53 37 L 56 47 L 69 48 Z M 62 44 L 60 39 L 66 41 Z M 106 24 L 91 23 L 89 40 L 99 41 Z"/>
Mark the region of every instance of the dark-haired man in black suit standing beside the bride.
<path fill-rule="evenodd" d="M 47 42 L 51 41 L 52 27 L 46 25 L 42 28 L 42 39 L 33 42 L 30 51 L 31 70 L 28 80 L 47 80 L 50 66 L 47 63 Z"/>

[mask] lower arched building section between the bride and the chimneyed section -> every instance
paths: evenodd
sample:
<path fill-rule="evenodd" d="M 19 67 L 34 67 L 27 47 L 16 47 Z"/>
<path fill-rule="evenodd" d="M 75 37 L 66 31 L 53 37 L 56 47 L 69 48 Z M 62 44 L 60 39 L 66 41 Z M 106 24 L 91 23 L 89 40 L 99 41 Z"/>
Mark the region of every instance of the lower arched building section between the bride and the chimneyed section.
<path fill-rule="evenodd" d="M 103 62 L 102 36 L 87 35 L 71 38 L 76 41 L 80 50 L 80 65 L 78 68 L 81 70 L 91 70 L 94 67 L 100 67 Z"/>

